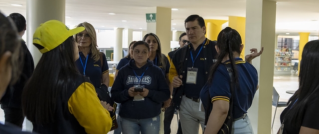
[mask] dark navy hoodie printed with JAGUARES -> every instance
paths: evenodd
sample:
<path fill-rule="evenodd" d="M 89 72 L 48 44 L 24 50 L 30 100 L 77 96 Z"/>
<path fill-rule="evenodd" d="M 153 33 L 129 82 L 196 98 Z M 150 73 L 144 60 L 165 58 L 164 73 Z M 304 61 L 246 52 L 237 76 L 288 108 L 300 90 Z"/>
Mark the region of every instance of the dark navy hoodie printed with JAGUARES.
<path fill-rule="evenodd" d="M 138 78 L 143 72 L 145 73 L 141 78 L 141 85 L 149 89 L 149 94 L 144 101 L 133 101 L 134 97 L 129 96 L 128 90 L 138 84 Z M 134 59 L 131 59 L 129 64 L 119 70 L 111 95 L 115 102 L 121 103 L 119 109 L 121 117 L 147 119 L 160 115 L 162 102 L 169 98 L 170 91 L 160 67 L 148 60 L 146 65 L 139 68 L 136 67 Z"/>

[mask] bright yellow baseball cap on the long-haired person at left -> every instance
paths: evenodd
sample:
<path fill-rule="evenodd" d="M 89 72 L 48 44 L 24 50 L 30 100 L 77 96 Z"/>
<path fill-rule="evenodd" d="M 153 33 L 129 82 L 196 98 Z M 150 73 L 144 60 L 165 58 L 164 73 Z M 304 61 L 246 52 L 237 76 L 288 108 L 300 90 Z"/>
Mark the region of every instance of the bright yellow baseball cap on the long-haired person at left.
<path fill-rule="evenodd" d="M 43 54 L 51 51 L 62 44 L 70 36 L 84 31 L 84 27 L 77 27 L 70 30 L 65 24 L 58 20 L 46 21 L 33 34 L 33 44 L 39 44 L 43 49 L 39 51 Z"/>

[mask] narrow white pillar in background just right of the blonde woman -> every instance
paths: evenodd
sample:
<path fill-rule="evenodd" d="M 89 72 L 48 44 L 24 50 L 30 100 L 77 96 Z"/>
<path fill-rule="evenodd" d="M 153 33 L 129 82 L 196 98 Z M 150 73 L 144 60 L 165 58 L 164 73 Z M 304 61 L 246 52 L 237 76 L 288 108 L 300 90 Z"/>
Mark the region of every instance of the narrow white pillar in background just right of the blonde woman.
<path fill-rule="evenodd" d="M 114 28 L 115 31 L 115 45 L 113 48 L 113 61 L 119 62 L 123 56 L 123 29 Z"/>

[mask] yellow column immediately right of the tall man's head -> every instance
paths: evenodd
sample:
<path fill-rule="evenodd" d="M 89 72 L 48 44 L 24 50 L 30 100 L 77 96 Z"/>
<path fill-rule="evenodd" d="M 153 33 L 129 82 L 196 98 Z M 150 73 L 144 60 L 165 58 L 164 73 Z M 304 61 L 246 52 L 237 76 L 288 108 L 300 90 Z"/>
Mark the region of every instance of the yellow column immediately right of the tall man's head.
<path fill-rule="evenodd" d="M 212 41 L 217 40 L 217 36 L 222 30 L 222 25 L 227 21 L 228 20 L 205 19 L 206 37 Z"/>

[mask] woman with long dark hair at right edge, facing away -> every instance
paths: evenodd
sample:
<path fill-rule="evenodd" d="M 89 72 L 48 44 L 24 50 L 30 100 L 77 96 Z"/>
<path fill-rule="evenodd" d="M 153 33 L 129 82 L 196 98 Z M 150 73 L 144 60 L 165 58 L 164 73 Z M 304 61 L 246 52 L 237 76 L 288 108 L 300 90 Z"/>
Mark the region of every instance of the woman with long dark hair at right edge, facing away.
<path fill-rule="evenodd" d="M 280 115 L 282 134 L 319 134 L 319 40 L 305 45 L 300 62 L 299 89 Z M 280 133 L 280 130 L 278 132 Z"/>

